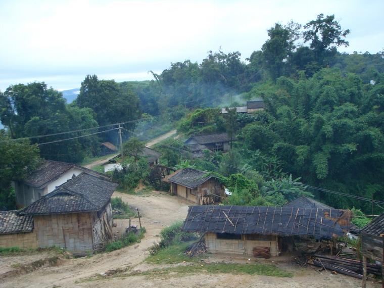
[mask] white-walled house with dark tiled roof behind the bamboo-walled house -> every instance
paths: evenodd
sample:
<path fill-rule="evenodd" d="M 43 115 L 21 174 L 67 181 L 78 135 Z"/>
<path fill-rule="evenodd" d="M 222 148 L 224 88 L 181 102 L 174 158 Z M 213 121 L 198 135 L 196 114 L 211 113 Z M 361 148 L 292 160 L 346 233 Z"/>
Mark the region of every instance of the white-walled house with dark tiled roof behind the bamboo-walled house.
<path fill-rule="evenodd" d="M 82 172 L 108 179 L 104 174 L 76 164 L 44 160 L 24 180 L 13 181 L 17 207 L 23 208 L 28 206 Z"/>

